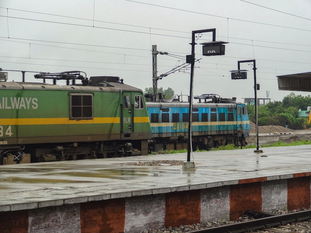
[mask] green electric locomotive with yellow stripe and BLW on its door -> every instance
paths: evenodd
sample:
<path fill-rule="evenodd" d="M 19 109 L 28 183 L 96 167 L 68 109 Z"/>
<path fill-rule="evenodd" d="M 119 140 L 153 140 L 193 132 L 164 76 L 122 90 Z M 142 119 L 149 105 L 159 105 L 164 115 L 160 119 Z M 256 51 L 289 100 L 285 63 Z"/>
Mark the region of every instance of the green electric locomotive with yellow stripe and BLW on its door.
<path fill-rule="evenodd" d="M 0 85 L 1 164 L 148 154 L 151 125 L 141 89 L 80 71 L 35 77 L 44 82 Z M 61 79 L 67 85 L 56 85 Z"/>

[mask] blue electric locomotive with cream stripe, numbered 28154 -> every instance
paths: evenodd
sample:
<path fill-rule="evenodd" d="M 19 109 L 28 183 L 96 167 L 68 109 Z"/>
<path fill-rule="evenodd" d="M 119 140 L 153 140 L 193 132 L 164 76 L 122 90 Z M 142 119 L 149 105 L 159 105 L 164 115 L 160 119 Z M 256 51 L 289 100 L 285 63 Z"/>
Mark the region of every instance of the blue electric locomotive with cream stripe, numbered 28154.
<path fill-rule="evenodd" d="M 194 97 L 192 105 L 192 146 L 195 150 L 233 143 L 245 145 L 250 131 L 245 103 L 215 94 Z M 189 103 L 165 98 L 147 102 L 154 150 L 187 148 Z"/>

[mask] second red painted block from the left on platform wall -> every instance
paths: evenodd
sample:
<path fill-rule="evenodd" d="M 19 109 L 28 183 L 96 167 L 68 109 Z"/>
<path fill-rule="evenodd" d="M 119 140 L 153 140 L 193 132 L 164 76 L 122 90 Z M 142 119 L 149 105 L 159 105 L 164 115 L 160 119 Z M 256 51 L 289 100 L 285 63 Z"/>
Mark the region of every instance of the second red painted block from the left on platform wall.
<path fill-rule="evenodd" d="M 81 233 L 123 233 L 125 199 L 81 203 Z"/>

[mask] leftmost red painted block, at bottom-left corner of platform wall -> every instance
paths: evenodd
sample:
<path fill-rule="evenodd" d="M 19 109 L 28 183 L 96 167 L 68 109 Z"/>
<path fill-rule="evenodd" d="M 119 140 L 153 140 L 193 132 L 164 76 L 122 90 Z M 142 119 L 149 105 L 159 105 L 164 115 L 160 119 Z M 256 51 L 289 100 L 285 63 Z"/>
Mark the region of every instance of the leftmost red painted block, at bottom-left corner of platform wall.
<path fill-rule="evenodd" d="M 1 233 L 28 233 L 29 210 L 0 212 Z"/>

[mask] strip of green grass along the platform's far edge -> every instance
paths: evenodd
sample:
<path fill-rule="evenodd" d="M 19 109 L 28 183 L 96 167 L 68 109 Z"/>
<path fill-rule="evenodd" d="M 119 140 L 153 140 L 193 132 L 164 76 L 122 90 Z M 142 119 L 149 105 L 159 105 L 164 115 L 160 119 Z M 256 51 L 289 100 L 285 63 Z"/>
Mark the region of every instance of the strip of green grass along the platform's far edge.
<path fill-rule="evenodd" d="M 291 143 L 286 143 L 281 140 L 278 140 L 275 143 L 272 144 L 267 144 L 267 145 L 260 145 L 261 148 L 265 147 L 279 147 L 279 146 L 301 146 L 301 145 L 311 145 L 311 140 L 306 141 L 305 139 L 301 139 L 298 141 L 293 141 Z M 250 149 L 250 148 L 256 148 L 256 144 L 253 145 L 247 145 L 244 146 L 242 149 Z M 240 147 L 236 147 L 234 144 L 228 144 L 225 146 L 220 146 L 218 148 L 211 148 L 210 151 L 217 151 L 217 150 L 239 150 Z M 202 151 L 207 151 L 207 150 L 199 150 L 198 148 L 193 151 L 193 152 L 202 152 Z M 157 151 L 157 152 L 152 152 L 151 155 L 155 154 L 177 154 L 177 153 L 186 153 L 188 152 L 187 149 L 182 149 L 182 150 L 163 150 L 163 151 Z"/>

